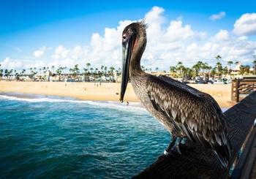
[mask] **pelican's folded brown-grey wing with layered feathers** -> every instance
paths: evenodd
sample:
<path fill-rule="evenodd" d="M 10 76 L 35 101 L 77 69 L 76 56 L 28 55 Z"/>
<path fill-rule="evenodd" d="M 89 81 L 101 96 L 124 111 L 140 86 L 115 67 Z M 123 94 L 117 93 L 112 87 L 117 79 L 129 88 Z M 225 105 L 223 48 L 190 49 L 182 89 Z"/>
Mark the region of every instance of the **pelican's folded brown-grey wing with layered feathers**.
<path fill-rule="evenodd" d="M 176 129 L 190 140 L 212 148 L 227 167 L 230 142 L 225 116 L 210 95 L 163 76 L 148 77 L 147 92 L 153 107 L 173 121 Z"/>

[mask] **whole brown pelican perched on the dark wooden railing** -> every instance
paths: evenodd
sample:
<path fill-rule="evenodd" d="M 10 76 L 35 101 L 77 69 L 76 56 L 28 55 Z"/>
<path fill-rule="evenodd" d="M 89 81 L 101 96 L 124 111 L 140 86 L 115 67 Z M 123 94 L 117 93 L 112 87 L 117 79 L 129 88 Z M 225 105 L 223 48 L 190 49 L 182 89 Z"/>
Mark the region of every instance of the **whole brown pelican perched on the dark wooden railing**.
<path fill-rule="evenodd" d="M 149 75 L 140 68 L 146 47 L 146 24 L 131 23 L 122 34 L 123 69 L 120 101 L 123 102 L 128 79 L 146 110 L 173 136 L 165 155 L 180 153 L 183 137 L 214 151 L 219 163 L 228 166 L 230 141 L 225 116 L 208 94 L 170 77 Z"/>

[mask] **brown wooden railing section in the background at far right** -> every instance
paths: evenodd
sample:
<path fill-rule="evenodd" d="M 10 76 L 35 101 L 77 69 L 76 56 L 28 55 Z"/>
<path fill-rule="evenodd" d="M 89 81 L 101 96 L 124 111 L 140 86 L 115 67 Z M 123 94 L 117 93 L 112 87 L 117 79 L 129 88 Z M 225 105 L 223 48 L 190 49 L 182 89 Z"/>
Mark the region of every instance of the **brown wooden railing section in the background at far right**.
<path fill-rule="evenodd" d="M 235 102 L 239 102 L 241 94 L 251 94 L 253 91 L 256 91 L 256 77 L 233 80 L 231 99 Z"/>

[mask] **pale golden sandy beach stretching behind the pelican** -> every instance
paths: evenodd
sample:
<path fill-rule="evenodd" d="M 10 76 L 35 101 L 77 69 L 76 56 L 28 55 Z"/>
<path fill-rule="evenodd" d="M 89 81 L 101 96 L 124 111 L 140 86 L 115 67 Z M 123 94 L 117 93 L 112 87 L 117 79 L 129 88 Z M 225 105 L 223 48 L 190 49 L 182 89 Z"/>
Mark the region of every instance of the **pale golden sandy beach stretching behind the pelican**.
<path fill-rule="evenodd" d="M 217 100 L 220 107 L 231 107 L 231 85 L 191 84 Z M 64 82 L 5 82 L 0 81 L 0 92 L 20 92 L 26 94 L 45 94 L 69 96 L 77 99 L 95 101 L 118 101 L 120 83 L 64 83 Z M 124 98 L 128 102 L 138 102 L 132 85 L 128 84 Z"/>

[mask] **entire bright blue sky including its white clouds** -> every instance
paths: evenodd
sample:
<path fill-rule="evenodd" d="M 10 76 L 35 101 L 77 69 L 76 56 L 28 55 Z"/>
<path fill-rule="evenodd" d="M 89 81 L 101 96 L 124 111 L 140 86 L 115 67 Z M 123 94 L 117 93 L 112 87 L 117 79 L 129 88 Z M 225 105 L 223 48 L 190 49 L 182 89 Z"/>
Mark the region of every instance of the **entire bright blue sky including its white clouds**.
<path fill-rule="evenodd" d="M 0 0 L 1 68 L 79 64 L 121 67 L 121 32 L 148 23 L 141 64 L 167 70 L 178 61 L 252 65 L 256 1 Z"/>

